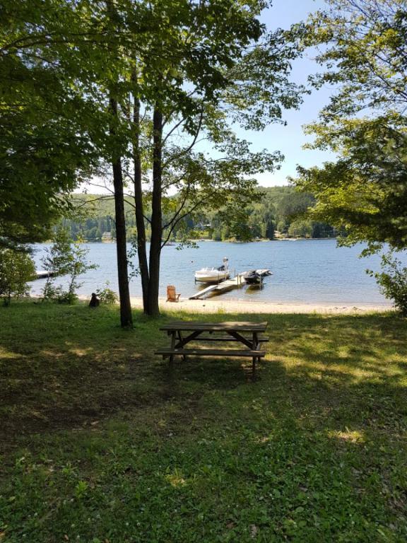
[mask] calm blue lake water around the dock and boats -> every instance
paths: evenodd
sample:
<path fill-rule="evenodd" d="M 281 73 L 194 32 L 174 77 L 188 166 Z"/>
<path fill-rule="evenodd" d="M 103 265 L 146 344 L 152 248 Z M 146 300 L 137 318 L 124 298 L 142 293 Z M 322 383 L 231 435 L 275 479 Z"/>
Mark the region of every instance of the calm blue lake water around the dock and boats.
<path fill-rule="evenodd" d="M 88 260 L 98 269 L 88 271 L 78 293 L 90 296 L 106 281 L 117 291 L 116 245 L 88 243 Z M 336 247 L 336 240 L 285 240 L 259 243 L 201 242 L 198 249 L 177 250 L 164 247 L 161 258 L 160 296 L 166 286 L 173 284 L 182 297 L 192 296 L 204 288 L 195 284 L 194 271 L 206 266 L 220 266 L 228 257 L 230 269 L 236 272 L 269 268 L 263 288 L 244 286 L 222 294 L 222 299 L 291 303 L 382 304 L 389 303 L 380 293 L 374 279 L 365 273 L 370 268 L 379 271 L 379 257 L 358 258 L 361 246 Z M 47 244 L 35 245 L 37 269 Z M 407 255 L 402 257 L 407 263 Z M 39 294 L 43 280 L 33 281 L 32 293 Z M 57 284 L 66 284 L 57 278 Z M 131 296 L 141 297 L 140 279 L 131 281 Z"/>

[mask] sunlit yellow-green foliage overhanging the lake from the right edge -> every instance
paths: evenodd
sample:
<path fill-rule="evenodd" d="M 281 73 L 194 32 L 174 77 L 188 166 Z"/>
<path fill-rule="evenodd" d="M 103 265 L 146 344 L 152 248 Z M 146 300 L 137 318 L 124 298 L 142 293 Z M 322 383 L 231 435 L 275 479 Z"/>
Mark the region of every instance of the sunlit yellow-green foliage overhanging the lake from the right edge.
<path fill-rule="evenodd" d="M 305 46 L 322 45 L 326 71 L 315 86 L 334 95 L 308 132 L 312 147 L 338 156 L 323 168 L 299 168 L 312 192 L 312 216 L 346 228 L 348 243 L 407 245 L 406 6 L 401 0 L 329 0 L 295 29 Z M 298 35 L 298 34 L 297 34 Z"/>

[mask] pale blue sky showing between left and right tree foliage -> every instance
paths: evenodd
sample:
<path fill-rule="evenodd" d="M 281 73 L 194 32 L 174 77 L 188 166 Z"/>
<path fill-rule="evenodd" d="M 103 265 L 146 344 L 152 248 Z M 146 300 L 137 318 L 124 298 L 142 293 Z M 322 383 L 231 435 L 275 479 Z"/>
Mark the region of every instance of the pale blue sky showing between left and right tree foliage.
<path fill-rule="evenodd" d="M 324 0 L 273 0 L 273 6 L 264 11 L 261 21 L 270 29 L 289 28 L 291 24 L 304 20 L 309 13 L 324 6 L 326 6 Z M 315 73 L 318 69 L 319 66 L 309 54 L 293 63 L 292 79 L 303 83 L 309 74 Z M 317 119 L 319 110 L 328 103 L 330 93 L 329 88 L 322 88 L 305 96 L 300 110 L 285 112 L 286 127 L 274 124 L 264 132 L 238 132 L 240 136 L 252 141 L 254 151 L 267 148 L 269 151 L 281 151 L 285 156 L 281 169 L 276 173 L 257 176 L 260 185 L 265 187 L 286 185 L 287 176 L 295 176 L 297 164 L 305 167 L 321 165 L 324 160 L 332 158 L 328 152 L 302 149 L 307 141 L 312 141 L 312 137 L 305 136 L 302 125 Z"/>

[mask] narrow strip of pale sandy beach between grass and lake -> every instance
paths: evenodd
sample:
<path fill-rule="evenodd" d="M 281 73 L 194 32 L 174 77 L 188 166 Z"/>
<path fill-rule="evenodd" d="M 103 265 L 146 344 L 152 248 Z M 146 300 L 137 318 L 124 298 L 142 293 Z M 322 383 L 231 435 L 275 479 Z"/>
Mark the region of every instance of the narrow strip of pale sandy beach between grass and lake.
<path fill-rule="evenodd" d="M 134 308 L 142 308 L 141 298 L 131 298 Z M 276 303 L 246 302 L 239 299 L 189 300 L 179 298 L 179 302 L 167 302 L 160 298 L 163 311 L 185 311 L 186 313 L 322 313 L 354 314 L 392 311 L 392 306 L 379 304 L 323 304 L 323 303 Z"/>

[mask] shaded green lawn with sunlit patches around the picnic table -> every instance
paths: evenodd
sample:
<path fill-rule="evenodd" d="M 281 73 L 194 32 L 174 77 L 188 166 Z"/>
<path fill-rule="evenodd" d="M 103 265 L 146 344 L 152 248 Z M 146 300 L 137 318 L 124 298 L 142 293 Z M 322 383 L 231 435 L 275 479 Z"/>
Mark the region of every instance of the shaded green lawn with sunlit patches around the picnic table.
<path fill-rule="evenodd" d="M 229 358 L 169 375 L 175 316 L 225 320 L 0 308 L 1 543 L 406 542 L 406 320 L 259 315 L 251 383 Z"/>

